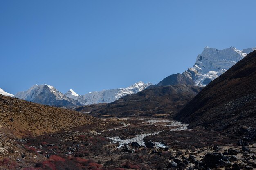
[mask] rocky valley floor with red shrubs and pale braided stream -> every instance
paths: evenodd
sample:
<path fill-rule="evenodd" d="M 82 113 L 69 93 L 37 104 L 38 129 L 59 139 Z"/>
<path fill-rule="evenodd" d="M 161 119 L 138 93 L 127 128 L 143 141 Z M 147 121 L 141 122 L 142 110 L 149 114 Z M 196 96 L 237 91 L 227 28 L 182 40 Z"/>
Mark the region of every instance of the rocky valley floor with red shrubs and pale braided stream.
<path fill-rule="evenodd" d="M 256 144 L 242 150 L 231 134 L 186 126 L 167 118 L 102 118 L 72 131 L 15 139 L 15 154 L 2 159 L 0 169 L 256 168 Z"/>

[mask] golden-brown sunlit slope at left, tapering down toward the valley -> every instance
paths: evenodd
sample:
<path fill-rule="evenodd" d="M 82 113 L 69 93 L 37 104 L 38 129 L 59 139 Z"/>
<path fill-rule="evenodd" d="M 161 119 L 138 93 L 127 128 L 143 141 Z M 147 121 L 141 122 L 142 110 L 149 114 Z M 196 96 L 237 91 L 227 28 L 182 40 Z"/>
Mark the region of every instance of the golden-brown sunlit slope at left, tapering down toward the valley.
<path fill-rule="evenodd" d="M 97 118 L 62 108 L 0 95 L 0 129 L 15 135 L 40 135 L 72 129 Z"/>

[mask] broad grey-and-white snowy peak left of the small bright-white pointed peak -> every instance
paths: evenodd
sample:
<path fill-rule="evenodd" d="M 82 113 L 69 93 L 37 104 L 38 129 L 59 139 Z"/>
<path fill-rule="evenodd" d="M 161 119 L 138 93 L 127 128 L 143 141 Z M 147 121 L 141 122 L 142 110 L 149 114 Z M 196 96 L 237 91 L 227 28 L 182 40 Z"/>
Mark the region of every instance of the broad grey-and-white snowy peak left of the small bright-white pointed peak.
<path fill-rule="evenodd" d="M 81 105 L 78 101 L 68 98 L 53 86 L 47 84 L 33 85 L 27 91 L 18 92 L 14 97 L 51 106 L 72 107 Z"/>

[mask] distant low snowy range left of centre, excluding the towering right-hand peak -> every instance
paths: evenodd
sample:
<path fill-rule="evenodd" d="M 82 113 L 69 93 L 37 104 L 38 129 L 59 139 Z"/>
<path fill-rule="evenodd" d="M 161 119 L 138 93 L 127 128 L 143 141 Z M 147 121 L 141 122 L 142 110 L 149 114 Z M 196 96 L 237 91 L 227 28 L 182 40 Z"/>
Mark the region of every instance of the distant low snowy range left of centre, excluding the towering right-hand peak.
<path fill-rule="evenodd" d="M 18 92 L 14 97 L 24 99 L 43 105 L 57 107 L 75 107 L 94 103 L 113 102 L 127 94 L 134 94 L 146 89 L 151 83 L 138 82 L 127 88 L 103 90 L 101 92 L 90 92 L 85 95 L 78 95 L 72 89 L 62 94 L 51 85 L 33 85 L 30 89 Z"/>

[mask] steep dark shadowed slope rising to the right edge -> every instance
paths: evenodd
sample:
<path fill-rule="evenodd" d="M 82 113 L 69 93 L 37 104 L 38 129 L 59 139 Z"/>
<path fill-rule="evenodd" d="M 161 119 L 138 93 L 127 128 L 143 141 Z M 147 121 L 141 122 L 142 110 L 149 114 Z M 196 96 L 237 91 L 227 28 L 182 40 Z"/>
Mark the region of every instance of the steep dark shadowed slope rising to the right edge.
<path fill-rule="evenodd" d="M 256 51 L 204 87 L 174 118 L 214 130 L 255 128 Z"/>

